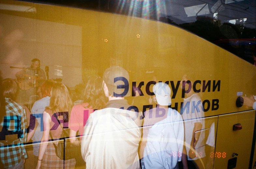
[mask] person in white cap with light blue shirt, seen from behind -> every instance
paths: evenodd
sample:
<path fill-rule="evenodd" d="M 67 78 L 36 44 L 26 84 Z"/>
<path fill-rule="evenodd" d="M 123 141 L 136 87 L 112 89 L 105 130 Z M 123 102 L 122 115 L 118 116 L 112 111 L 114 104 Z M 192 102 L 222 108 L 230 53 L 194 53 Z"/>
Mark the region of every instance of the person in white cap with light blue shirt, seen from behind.
<path fill-rule="evenodd" d="M 159 82 L 153 87 L 156 108 L 145 111 L 141 165 L 146 169 L 177 169 L 184 143 L 184 124 L 180 113 L 170 108 L 171 88 Z M 143 155 L 142 155 L 143 152 Z"/>

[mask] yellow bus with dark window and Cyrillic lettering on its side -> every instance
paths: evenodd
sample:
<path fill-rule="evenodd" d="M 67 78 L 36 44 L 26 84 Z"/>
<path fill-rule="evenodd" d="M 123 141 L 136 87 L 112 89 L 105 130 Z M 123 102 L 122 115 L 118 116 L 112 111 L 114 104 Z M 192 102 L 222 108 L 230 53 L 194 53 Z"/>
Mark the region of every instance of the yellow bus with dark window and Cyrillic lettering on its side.
<path fill-rule="evenodd" d="M 45 78 L 61 81 L 76 101 L 79 84 L 119 66 L 129 74 L 126 99 L 142 116 L 157 107 L 153 86 L 164 82 L 172 93 L 169 107 L 184 119 L 184 149 L 191 140 L 186 124 L 202 122 L 191 133 L 199 140 L 192 146 L 194 165 L 251 169 L 255 110 L 236 102 L 256 95 L 255 20 L 253 0 L 1 0 L 1 77 L 19 82 L 16 73 L 37 58 Z M 19 102 L 31 110 L 40 96 L 23 85 Z M 196 102 L 188 101 L 192 95 Z M 34 167 L 39 142 L 25 144 L 25 168 Z"/>

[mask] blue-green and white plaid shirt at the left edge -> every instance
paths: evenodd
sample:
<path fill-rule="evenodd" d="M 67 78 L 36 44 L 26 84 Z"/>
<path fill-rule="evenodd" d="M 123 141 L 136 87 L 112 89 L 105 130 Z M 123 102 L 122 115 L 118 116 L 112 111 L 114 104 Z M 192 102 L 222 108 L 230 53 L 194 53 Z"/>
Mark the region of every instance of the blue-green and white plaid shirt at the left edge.
<path fill-rule="evenodd" d="M 8 134 L 6 140 L 0 141 L 0 158 L 4 167 L 9 168 L 27 158 L 23 146 L 27 141 L 27 117 L 25 108 L 10 98 L 5 98 L 5 110 L 6 116 L 3 118 L 1 128 L 6 129 Z M 13 139 L 9 139 L 11 137 Z"/>

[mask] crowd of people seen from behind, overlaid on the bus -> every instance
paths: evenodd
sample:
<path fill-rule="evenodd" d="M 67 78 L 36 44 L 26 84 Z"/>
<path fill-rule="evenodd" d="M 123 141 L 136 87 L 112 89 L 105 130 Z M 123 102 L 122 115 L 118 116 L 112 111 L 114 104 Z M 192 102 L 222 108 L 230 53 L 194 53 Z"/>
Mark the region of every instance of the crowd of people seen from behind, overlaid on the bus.
<path fill-rule="evenodd" d="M 31 69 L 38 59 L 32 63 Z M 67 86 L 45 80 L 44 72 L 35 72 L 41 74 L 44 82 L 35 90 L 41 99 L 33 104 L 31 112 L 27 105 L 14 101 L 19 90 L 17 82 L 10 78 L 1 82 L 0 168 L 23 168 L 28 158 L 24 144 L 30 139 L 34 155 L 34 164 L 30 166 L 36 169 L 185 169 L 197 168 L 193 160 L 205 157 L 203 147 L 198 146 L 200 156 L 196 152 L 197 143 L 205 137 L 194 136 L 204 129 L 204 111 L 197 93 L 186 94 L 183 104 L 191 104 L 180 113 L 171 108 L 169 85 L 156 83 L 154 96 L 142 98 L 143 102 L 154 102 L 157 106 L 142 112 L 136 106 L 138 91 L 130 105 L 125 99 L 130 91 L 124 94 L 127 86 L 122 80 L 115 80 L 123 77 L 129 81 L 129 74 L 122 67 L 111 66 L 102 78 L 91 76 L 82 87 L 81 98 L 75 102 Z M 184 75 L 183 80 L 187 78 Z M 196 122 L 184 123 L 189 119 Z M 63 144 L 63 133 L 68 133 L 66 145 L 73 149 L 66 159 L 57 153 Z"/>

